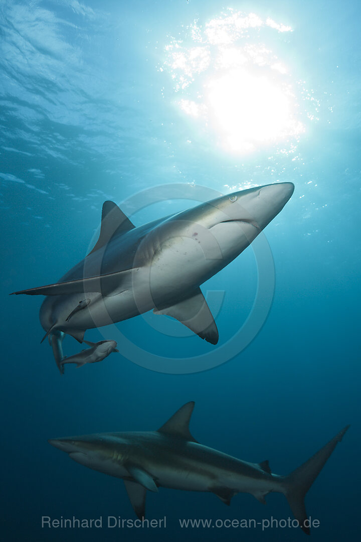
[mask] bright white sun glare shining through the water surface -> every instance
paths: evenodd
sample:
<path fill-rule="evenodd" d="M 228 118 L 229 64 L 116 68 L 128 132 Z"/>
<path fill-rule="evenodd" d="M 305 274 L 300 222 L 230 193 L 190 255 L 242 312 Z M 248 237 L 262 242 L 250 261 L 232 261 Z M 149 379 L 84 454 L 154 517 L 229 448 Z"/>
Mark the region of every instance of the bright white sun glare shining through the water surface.
<path fill-rule="evenodd" d="M 172 75 L 181 111 L 230 152 L 281 144 L 305 131 L 297 83 L 272 47 L 260 41 L 262 29 L 267 36 L 292 32 L 271 18 L 232 9 L 203 26 L 195 21 L 166 46 L 160 68 Z"/>

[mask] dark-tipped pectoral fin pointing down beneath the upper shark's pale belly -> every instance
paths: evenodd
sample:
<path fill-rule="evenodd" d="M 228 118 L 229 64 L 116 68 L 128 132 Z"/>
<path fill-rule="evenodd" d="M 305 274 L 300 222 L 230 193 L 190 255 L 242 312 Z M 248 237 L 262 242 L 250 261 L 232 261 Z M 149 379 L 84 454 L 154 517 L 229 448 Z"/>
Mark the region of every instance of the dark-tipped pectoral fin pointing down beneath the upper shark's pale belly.
<path fill-rule="evenodd" d="M 187 326 L 208 343 L 218 343 L 218 330 L 204 295 L 197 288 L 195 294 L 188 299 L 170 307 L 154 309 L 154 314 L 167 314 Z"/>

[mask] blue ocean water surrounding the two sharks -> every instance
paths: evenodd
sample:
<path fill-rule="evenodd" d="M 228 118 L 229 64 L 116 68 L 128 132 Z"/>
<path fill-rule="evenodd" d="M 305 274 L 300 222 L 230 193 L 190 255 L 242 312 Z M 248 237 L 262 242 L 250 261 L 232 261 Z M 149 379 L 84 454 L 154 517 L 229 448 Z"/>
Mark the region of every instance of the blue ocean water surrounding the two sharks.
<path fill-rule="evenodd" d="M 211 493 L 165 488 L 148 494 L 147 517 L 166 516 L 166 528 L 42 528 L 42 516 L 134 518 L 120 480 L 70 461 L 48 438 L 153 430 L 195 401 L 191 431 L 199 442 L 246 461 L 268 459 L 279 474 L 350 423 L 306 508 L 320 522 L 315 540 L 355 540 L 359 2 L 54 0 L 0 7 L 2 539 L 303 539 L 293 528 L 179 525 L 180 518 L 288 518 L 283 495 L 268 495 L 262 506 L 239 494 L 228 508 Z M 40 344 L 41 299 L 8 296 L 54 282 L 81 260 L 106 199 L 140 225 L 197 203 L 178 192 L 147 206 L 149 189 L 181 183 L 187 193 L 201 186 L 228 193 L 278 181 L 293 182 L 295 191 L 265 230 L 275 272 L 270 312 L 251 343 L 233 359 L 220 353 L 213 369 L 152 371 L 145 359 L 122 356 L 118 342 L 121 354 L 61 377 L 48 344 Z M 223 296 L 217 349 L 246 321 L 258 272 L 248 248 L 202 286 Z M 214 351 L 195 335 L 174 336 L 181 325 L 169 319 L 162 332 L 156 318 L 118 326 L 145 358 Z M 90 330 L 87 338 L 107 333 Z M 69 355 L 80 347 L 67 338 L 64 349 Z"/>

